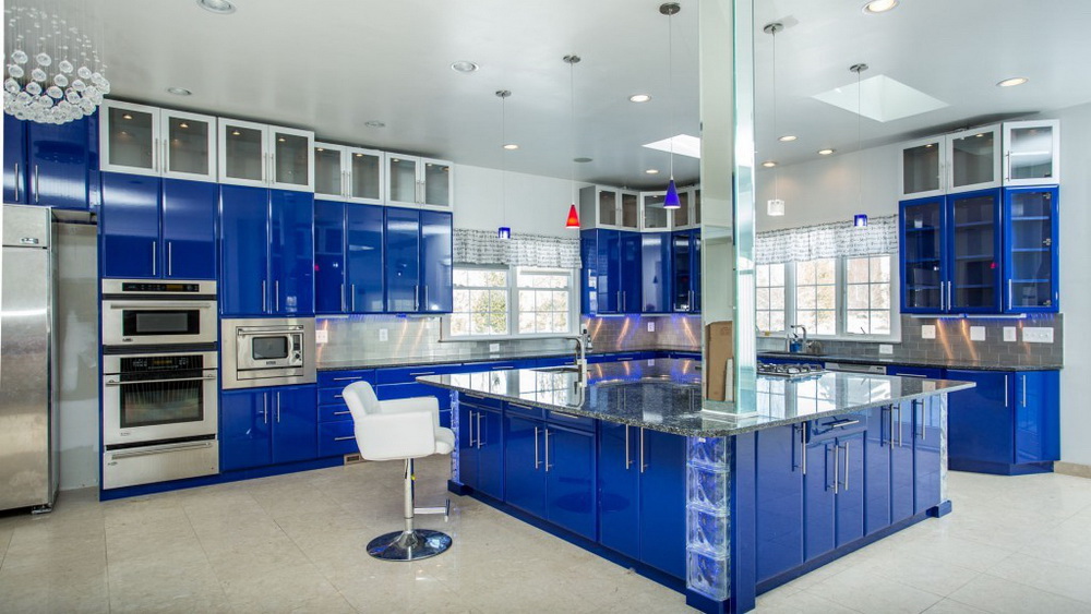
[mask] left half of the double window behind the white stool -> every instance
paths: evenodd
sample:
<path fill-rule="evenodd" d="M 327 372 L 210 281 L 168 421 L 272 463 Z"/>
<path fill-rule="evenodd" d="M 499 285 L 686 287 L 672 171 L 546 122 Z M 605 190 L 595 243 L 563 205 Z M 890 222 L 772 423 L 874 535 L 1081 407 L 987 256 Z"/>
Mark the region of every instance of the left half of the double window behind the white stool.
<path fill-rule="evenodd" d="M 507 335 L 507 268 L 455 268 L 451 335 Z"/>

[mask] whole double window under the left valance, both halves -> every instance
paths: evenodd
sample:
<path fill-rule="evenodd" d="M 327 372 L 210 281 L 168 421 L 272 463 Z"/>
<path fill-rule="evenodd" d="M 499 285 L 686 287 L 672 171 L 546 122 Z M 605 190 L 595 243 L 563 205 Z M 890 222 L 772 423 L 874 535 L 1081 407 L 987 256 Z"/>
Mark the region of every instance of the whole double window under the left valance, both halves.
<path fill-rule="evenodd" d="M 447 338 L 566 335 L 573 330 L 573 272 L 566 268 L 454 268 Z"/>

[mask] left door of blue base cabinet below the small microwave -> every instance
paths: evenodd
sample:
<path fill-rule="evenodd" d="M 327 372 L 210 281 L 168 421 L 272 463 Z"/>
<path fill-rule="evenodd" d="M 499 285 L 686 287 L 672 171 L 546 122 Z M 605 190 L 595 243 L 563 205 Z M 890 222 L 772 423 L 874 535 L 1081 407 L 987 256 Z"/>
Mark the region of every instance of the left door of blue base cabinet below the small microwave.
<path fill-rule="evenodd" d="M 271 409 L 264 388 L 220 395 L 220 471 L 263 467 L 273 461 Z"/>

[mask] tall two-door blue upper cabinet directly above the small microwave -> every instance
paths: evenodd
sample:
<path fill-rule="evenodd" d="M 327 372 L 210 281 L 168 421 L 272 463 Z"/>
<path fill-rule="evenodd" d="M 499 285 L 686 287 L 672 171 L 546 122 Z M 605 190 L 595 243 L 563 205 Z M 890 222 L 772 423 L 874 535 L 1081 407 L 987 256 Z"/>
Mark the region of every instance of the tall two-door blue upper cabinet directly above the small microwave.
<path fill-rule="evenodd" d="M 220 314 L 313 314 L 313 194 L 241 185 L 220 191 Z"/>

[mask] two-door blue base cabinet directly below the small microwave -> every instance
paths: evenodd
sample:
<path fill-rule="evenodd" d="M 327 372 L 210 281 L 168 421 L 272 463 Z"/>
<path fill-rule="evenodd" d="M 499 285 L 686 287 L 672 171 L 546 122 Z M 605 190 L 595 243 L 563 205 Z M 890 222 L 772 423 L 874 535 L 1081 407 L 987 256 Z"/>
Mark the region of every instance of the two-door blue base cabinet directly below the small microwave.
<path fill-rule="evenodd" d="M 310 460 L 319 455 L 315 387 L 220 394 L 220 471 Z"/>

